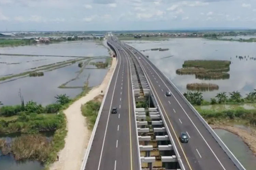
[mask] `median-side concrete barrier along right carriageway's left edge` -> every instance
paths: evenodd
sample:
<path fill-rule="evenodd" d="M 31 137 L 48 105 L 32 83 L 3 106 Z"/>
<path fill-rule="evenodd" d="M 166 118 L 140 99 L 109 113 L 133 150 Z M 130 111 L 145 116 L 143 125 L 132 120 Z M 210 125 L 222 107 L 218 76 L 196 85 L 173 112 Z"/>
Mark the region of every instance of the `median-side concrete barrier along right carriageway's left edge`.
<path fill-rule="evenodd" d="M 134 56 L 136 56 L 132 51 L 131 51 L 131 53 L 132 53 Z M 138 60 L 137 57 L 136 57 L 136 60 Z M 143 68 L 142 71 L 143 71 L 143 73 L 144 73 L 144 75 L 145 75 L 145 78 L 146 78 L 147 82 L 149 82 L 148 79 L 147 79 L 147 76 L 146 76 L 144 67 L 141 65 L 140 62 L 138 62 L 138 63 L 139 63 L 139 65 L 141 66 L 141 68 Z M 150 87 L 150 91 L 153 91 L 153 90 L 152 90 L 152 87 L 151 87 L 151 85 L 150 85 L 150 83 L 148 83 L 148 85 L 149 85 L 149 87 Z M 159 113 L 160 113 L 160 115 L 161 115 L 161 118 L 162 118 L 162 120 L 163 120 L 163 123 L 164 123 L 165 127 L 167 127 L 167 128 L 166 128 L 166 129 L 167 129 L 167 133 L 168 133 L 169 139 L 171 140 L 171 143 L 172 143 L 172 146 L 173 146 L 173 150 L 174 150 L 174 152 L 175 152 L 175 155 L 177 156 L 177 160 L 178 160 L 178 162 L 179 162 L 179 165 L 180 165 L 180 167 L 181 167 L 182 170 L 185 170 L 185 167 L 184 167 L 184 165 L 183 165 L 181 156 L 180 156 L 179 151 L 177 150 L 177 147 L 176 147 L 176 145 L 175 145 L 175 143 L 174 143 L 174 140 L 173 140 L 173 138 L 172 138 L 171 132 L 170 132 L 170 130 L 169 130 L 169 128 L 168 128 L 168 125 L 167 125 L 167 123 L 166 123 L 165 117 L 163 116 L 162 111 L 161 111 L 161 109 L 160 109 L 160 106 L 159 106 L 158 102 L 156 101 L 156 96 L 155 96 L 155 94 L 152 93 L 152 92 L 151 92 L 151 95 L 153 95 L 153 100 L 154 100 L 153 102 L 156 103 L 156 106 L 157 106 L 158 111 L 159 111 Z"/>

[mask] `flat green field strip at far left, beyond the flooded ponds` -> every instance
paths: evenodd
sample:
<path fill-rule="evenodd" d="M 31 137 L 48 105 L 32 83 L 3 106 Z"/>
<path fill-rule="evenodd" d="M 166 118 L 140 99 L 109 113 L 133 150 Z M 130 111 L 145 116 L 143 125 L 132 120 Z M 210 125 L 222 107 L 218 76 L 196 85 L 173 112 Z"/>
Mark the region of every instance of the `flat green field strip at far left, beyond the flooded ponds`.
<path fill-rule="evenodd" d="M 35 44 L 33 39 L 0 39 L 0 47 L 5 46 L 24 46 Z"/>

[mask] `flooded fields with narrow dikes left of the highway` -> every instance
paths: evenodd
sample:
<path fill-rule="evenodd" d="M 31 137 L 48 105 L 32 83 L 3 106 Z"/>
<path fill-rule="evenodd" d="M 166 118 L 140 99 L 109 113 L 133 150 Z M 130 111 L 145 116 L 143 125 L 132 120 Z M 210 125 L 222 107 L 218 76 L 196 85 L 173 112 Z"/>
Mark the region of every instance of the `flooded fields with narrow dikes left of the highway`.
<path fill-rule="evenodd" d="M 98 42 L 97 42 L 98 43 Z M 64 42 L 49 45 L 0 48 L 0 53 L 33 55 L 108 56 L 108 49 L 95 41 Z M 4 56 L 0 55 L 0 78 L 5 75 L 30 71 L 31 68 L 52 63 L 74 60 L 74 57 L 51 56 Z M 99 85 L 108 69 L 97 69 L 90 62 L 105 62 L 106 58 L 79 58 L 79 62 L 62 65 L 60 68 L 42 70 L 42 77 L 15 77 L 0 81 L 0 101 L 4 105 L 20 104 L 19 89 L 24 101 L 36 101 L 42 105 L 55 103 L 54 96 L 67 94 L 71 98 L 82 92 L 87 82 L 89 87 Z M 79 67 L 82 62 L 85 66 Z M 16 64 L 10 64 L 16 63 Z M 17 64 L 18 63 L 18 64 Z M 86 65 L 87 64 L 87 65 Z M 58 88 L 67 83 L 65 87 Z"/>

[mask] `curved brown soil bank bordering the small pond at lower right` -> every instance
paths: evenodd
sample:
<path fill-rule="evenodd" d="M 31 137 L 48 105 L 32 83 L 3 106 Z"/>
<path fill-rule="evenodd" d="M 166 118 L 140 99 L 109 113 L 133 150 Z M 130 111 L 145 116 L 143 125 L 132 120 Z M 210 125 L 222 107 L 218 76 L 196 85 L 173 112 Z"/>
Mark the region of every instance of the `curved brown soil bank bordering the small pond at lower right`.
<path fill-rule="evenodd" d="M 241 139 L 246 143 L 246 145 L 253 152 L 254 156 L 256 156 L 256 131 L 254 129 L 245 130 L 238 127 L 234 127 L 232 124 L 211 124 L 213 129 L 223 129 L 233 134 L 238 135 Z"/>

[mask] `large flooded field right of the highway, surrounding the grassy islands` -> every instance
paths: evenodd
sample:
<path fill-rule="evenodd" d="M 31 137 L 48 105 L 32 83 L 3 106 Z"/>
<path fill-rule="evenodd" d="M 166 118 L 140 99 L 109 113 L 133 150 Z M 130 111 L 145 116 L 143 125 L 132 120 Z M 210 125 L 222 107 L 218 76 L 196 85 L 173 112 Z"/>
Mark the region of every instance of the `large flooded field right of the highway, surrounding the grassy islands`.
<path fill-rule="evenodd" d="M 240 43 L 236 41 L 217 41 L 202 38 L 171 38 L 163 41 L 125 41 L 142 51 L 167 77 L 182 91 L 186 92 L 188 83 L 213 83 L 218 90 L 203 92 L 209 100 L 220 91 L 238 90 L 245 96 L 256 88 L 255 73 L 256 43 Z M 167 51 L 152 51 L 152 48 L 169 48 Z M 240 60 L 236 56 L 246 56 Z M 247 57 L 249 56 L 249 57 Z M 178 75 L 176 70 L 182 68 L 185 60 L 229 60 L 231 61 L 229 79 L 200 80 L 195 75 Z"/>

